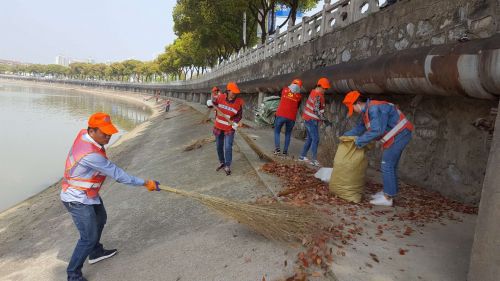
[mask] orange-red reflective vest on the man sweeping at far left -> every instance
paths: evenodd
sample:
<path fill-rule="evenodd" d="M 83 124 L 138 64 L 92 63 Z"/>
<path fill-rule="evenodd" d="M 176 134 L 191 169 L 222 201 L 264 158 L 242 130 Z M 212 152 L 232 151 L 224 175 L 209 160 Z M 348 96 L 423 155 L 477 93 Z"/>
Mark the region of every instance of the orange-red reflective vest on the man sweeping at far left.
<path fill-rule="evenodd" d="M 99 196 L 99 190 L 106 179 L 106 176 L 96 171 L 90 178 L 71 177 L 72 169 L 80 160 L 90 153 L 97 153 L 108 159 L 106 152 L 98 148 L 95 144 L 83 139 L 87 133 L 86 129 L 81 130 L 76 136 L 75 142 L 71 147 L 66 158 L 66 167 L 64 168 L 64 177 L 62 180 L 62 189 L 64 192 L 68 188 L 83 190 L 87 197 L 94 198 Z"/>

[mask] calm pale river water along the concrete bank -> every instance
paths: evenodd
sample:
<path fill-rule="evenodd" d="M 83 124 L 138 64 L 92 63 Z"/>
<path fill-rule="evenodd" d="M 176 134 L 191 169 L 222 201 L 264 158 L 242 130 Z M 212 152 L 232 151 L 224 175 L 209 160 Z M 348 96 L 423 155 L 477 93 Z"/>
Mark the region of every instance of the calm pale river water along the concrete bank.
<path fill-rule="evenodd" d="M 98 111 L 120 130 L 110 144 L 152 113 L 117 97 L 0 81 L 0 212 L 62 177 L 76 134 Z"/>

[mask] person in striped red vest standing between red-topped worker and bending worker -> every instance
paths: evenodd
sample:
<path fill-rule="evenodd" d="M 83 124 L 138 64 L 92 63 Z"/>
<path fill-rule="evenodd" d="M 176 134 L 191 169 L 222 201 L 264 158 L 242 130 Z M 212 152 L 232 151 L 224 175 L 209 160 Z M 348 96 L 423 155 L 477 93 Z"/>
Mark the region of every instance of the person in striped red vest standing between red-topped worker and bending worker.
<path fill-rule="evenodd" d="M 326 120 L 325 113 L 325 91 L 330 89 L 330 81 L 323 77 L 316 83 L 316 88 L 314 88 L 309 97 L 307 98 L 306 104 L 304 106 L 304 111 L 302 113 L 302 119 L 304 119 L 304 124 L 306 127 L 307 137 L 302 152 L 299 156 L 299 161 L 305 161 L 312 164 L 313 166 L 319 167 L 320 163 L 317 159 L 318 155 L 318 144 L 319 144 L 319 122 L 321 120 Z M 311 149 L 311 160 L 309 160 L 306 155 Z"/>

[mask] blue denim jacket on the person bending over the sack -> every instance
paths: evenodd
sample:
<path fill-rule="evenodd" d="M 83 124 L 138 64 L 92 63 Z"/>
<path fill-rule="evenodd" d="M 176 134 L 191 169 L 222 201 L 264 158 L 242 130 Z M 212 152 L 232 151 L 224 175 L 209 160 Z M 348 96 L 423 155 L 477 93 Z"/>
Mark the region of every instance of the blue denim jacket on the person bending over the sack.
<path fill-rule="evenodd" d="M 382 137 L 399 122 L 399 113 L 394 105 L 372 105 L 368 110 L 371 129 L 367 131 L 363 121 L 363 114 L 365 114 L 369 104 L 370 100 L 368 99 L 358 120 L 358 124 L 344 134 L 345 136 L 358 136 L 355 142 L 358 147 L 363 147 L 371 141 Z"/>

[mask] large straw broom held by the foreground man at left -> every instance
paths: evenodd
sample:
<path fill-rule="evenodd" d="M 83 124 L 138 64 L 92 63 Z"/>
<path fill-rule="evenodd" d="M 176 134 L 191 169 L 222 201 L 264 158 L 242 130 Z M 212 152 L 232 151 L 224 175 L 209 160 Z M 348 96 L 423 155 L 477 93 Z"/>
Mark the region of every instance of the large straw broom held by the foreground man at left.
<path fill-rule="evenodd" d="M 312 208 L 301 208 L 282 203 L 230 201 L 197 192 L 178 190 L 166 185 L 160 185 L 159 188 L 166 192 L 195 199 L 275 241 L 302 241 L 317 233 L 321 229 L 321 225 L 327 223 L 326 217 Z"/>

